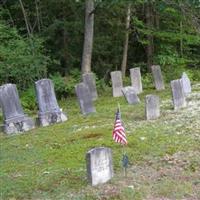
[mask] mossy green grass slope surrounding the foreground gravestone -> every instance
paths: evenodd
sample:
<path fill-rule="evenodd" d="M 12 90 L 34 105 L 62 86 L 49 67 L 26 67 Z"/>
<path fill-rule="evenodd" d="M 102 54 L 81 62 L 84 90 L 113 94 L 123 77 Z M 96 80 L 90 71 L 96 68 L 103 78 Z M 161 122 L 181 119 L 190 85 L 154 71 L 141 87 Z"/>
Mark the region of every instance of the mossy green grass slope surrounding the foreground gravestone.
<path fill-rule="evenodd" d="M 200 86 L 195 93 L 200 92 Z M 144 96 L 158 94 L 162 116 L 146 121 Z M 97 113 L 82 116 L 75 99 L 60 102 L 69 120 L 27 134 L 0 134 L 0 190 L 2 199 L 198 199 L 200 196 L 200 110 L 177 113 L 169 89 L 145 91 L 142 102 L 128 105 L 124 98 L 101 96 Z M 190 102 L 200 102 L 191 96 Z M 122 150 L 112 141 L 117 103 L 128 135 L 128 177 L 121 169 Z M 197 107 L 191 104 L 191 108 Z M 113 150 L 115 177 L 91 187 L 86 180 L 85 153 L 92 147 Z"/>

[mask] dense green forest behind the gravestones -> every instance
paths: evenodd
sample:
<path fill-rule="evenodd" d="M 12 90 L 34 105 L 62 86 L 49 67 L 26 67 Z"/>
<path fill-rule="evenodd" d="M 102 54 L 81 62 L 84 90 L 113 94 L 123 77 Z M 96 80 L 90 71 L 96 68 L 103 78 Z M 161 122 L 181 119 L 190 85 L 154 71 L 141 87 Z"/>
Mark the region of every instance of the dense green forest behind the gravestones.
<path fill-rule="evenodd" d="M 87 2 L 94 3 L 91 71 L 97 87 L 110 85 L 111 71 L 128 75 L 133 67 L 148 84 L 152 64 L 161 66 L 168 82 L 183 71 L 200 80 L 198 0 L 1 0 L 0 85 L 15 83 L 33 96 L 34 81 L 48 77 L 59 98 L 73 95 L 81 78 Z"/>

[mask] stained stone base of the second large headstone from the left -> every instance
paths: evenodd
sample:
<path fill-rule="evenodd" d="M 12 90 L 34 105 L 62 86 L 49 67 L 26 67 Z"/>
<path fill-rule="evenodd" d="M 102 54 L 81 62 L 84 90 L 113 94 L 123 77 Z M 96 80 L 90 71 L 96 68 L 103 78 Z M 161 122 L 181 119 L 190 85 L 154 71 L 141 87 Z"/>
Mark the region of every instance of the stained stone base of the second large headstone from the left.
<path fill-rule="evenodd" d="M 51 124 L 67 121 L 67 116 L 63 112 L 39 113 L 37 121 L 40 126 L 49 126 Z"/>

